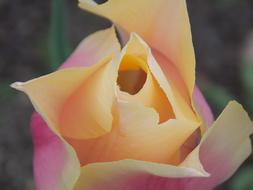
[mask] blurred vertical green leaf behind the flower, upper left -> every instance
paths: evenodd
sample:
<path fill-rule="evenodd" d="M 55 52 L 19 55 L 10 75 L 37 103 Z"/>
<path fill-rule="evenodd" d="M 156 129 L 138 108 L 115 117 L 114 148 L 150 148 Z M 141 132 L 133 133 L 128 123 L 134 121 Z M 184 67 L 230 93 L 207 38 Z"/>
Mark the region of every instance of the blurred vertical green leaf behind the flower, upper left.
<path fill-rule="evenodd" d="M 49 30 L 49 58 L 51 69 L 57 69 L 70 55 L 71 48 L 67 38 L 67 9 L 65 0 L 51 1 Z"/>

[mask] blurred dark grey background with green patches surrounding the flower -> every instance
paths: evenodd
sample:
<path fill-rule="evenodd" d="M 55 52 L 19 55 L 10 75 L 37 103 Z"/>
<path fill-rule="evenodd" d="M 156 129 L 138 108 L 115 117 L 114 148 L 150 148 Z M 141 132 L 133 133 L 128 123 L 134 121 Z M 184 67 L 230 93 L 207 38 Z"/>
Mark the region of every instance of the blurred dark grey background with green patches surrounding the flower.
<path fill-rule="evenodd" d="M 187 1 L 197 83 L 215 116 L 236 99 L 252 117 L 253 1 Z M 29 129 L 33 108 L 9 85 L 55 70 L 80 40 L 108 26 L 110 22 L 81 11 L 77 0 L 0 0 L 1 190 L 35 189 Z M 253 156 L 217 189 L 252 190 Z"/>

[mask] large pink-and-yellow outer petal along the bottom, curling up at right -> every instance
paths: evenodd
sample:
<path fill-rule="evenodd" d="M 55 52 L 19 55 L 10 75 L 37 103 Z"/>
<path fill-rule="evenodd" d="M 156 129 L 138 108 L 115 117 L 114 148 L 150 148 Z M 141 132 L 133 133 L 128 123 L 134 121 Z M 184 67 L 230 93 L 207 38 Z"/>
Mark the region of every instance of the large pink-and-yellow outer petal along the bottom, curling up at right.
<path fill-rule="evenodd" d="M 249 156 L 252 132 L 253 125 L 245 111 L 231 102 L 201 144 L 179 166 L 136 160 L 90 164 L 82 168 L 75 190 L 211 190 Z"/>

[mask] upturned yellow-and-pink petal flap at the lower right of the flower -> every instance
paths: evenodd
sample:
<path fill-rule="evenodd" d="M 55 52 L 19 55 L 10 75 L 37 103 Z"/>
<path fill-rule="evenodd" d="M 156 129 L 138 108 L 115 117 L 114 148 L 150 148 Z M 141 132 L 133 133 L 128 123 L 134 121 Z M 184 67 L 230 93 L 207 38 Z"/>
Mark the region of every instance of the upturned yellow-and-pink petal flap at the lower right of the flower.
<path fill-rule="evenodd" d="M 188 181 L 189 190 L 211 190 L 231 177 L 251 153 L 252 133 L 253 123 L 247 113 L 237 102 L 230 102 L 197 147 L 203 167 L 211 176 Z"/>

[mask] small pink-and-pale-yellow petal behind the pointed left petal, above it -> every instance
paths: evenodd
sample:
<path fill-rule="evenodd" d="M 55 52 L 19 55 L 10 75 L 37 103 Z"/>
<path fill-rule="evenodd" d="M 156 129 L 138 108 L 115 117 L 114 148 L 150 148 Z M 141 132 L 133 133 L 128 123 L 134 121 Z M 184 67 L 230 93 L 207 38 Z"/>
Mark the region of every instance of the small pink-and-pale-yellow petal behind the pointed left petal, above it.
<path fill-rule="evenodd" d="M 105 57 L 113 57 L 119 52 L 120 44 L 112 26 L 86 37 L 60 69 L 91 66 Z"/>

